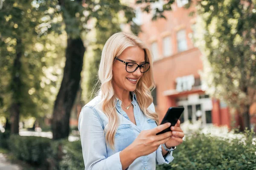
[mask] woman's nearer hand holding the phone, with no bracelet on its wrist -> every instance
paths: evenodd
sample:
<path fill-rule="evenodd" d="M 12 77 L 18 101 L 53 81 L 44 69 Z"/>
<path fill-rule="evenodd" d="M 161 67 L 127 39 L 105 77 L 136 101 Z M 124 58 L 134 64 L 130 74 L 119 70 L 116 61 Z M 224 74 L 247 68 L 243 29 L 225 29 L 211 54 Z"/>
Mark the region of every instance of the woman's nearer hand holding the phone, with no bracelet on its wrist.
<path fill-rule="evenodd" d="M 138 137 L 130 145 L 134 155 L 136 155 L 137 158 L 148 155 L 157 150 L 160 144 L 164 144 L 169 141 L 172 136 L 171 131 L 162 133 L 160 135 L 156 134 L 170 126 L 171 123 L 165 123 L 155 127 L 154 129 L 141 131 Z"/>

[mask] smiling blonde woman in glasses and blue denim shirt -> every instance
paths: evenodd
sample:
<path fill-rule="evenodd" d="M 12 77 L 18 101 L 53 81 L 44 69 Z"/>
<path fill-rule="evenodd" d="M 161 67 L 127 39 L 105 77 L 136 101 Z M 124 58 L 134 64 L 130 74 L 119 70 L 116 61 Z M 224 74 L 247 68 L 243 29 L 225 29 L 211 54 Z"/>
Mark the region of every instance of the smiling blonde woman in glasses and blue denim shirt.
<path fill-rule="evenodd" d="M 85 170 L 155 170 L 174 159 L 184 133 L 178 121 L 172 132 L 156 135 L 170 124 L 157 126 L 151 63 L 150 50 L 133 34 L 116 33 L 106 42 L 98 96 L 79 115 Z"/>

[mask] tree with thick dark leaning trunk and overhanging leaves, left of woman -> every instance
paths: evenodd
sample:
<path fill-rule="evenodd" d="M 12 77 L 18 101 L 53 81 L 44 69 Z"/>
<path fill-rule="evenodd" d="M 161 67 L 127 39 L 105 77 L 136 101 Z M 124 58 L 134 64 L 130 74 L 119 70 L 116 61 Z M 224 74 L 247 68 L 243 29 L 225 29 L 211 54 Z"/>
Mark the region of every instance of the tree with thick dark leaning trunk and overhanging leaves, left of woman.
<path fill-rule="evenodd" d="M 54 140 L 67 138 L 69 135 L 70 111 L 79 90 L 84 52 L 86 51 L 81 36 L 93 28 L 94 19 L 104 22 L 105 17 L 111 17 L 113 11 L 115 13 L 123 11 L 128 23 L 134 17 L 133 9 L 120 3 L 119 0 L 58 0 L 58 4 L 67 33 L 67 48 L 63 79 L 52 116 Z"/>

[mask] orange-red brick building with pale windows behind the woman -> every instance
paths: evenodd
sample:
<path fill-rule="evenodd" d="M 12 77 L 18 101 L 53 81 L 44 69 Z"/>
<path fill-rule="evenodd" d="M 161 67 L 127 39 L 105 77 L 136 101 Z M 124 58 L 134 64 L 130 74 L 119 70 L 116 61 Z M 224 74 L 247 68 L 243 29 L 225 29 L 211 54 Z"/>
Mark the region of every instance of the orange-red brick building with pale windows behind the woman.
<path fill-rule="evenodd" d="M 231 115 L 227 105 L 210 98 L 202 88 L 199 75 L 199 71 L 203 70 L 201 52 L 192 41 L 196 16 L 189 16 L 193 8 L 183 8 L 187 2 L 177 0 L 172 5 L 172 11 L 164 13 L 166 20 L 152 21 L 152 14 L 142 13 L 140 8 L 136 8 L 134 21 L 142 28 L 139 37 L 154 55 L 156 89 L 152 93 L 156 111 L 161 120 L 169 107 L 183 106 L 182 122 L 195 122 L 201 116 L 203 125 L 230 127 Z M 160 8 L 161 3 L 152 4 L 152 8 Z M 251 113 L 255 111 L 256 106 L 250 109 Z M 252 118 L 253 124 L 256 118 Z"/>

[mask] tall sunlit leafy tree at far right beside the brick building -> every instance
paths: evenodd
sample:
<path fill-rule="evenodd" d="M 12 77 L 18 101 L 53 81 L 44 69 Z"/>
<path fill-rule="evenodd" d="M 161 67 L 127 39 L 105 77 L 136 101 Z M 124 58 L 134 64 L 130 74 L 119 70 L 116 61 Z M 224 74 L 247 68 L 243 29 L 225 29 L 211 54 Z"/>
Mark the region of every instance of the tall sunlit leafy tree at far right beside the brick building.
<path fill-rule="evenodd" d="M 207 92 L 235 108 L 250 128 L 256 102 L 256 0 L 204 0 L 198 4 L 198 41 Z"/>

